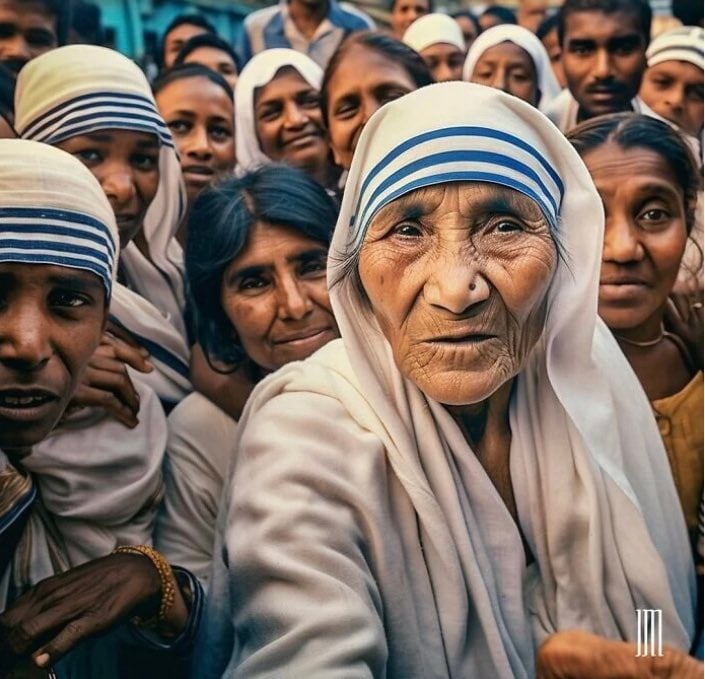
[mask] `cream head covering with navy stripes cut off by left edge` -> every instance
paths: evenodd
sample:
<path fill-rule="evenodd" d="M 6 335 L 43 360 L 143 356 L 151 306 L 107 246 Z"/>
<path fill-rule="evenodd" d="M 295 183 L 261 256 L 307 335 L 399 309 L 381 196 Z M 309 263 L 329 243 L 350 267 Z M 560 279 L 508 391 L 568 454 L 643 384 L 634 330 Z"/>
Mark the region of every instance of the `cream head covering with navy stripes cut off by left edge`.
<path fill-rule="evenodd" d="M 110 203 L 83 163 L 46 144 L 0 140 L 0 262 L 90 271 L 109 300 L 118 248 Z"/>

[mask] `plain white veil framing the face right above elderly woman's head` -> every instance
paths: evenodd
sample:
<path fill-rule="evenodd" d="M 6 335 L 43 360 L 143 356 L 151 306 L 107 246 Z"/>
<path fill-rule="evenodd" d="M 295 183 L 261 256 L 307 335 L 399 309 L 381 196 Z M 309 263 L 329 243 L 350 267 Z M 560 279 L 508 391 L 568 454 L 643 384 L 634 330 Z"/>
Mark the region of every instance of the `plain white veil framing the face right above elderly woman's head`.
<path fill-rule="evenodd" d="M 538 80 L 539 89 L 541 90 L 541 100 L 539 101 L 538 108 L 543 110 L 560 94 L 561 87 L 551 68 L 551 60 L 548 57 L 546 48 L 531 31 L 522 26 L 501 24 L 488 28 L 486 31 L 480 33 L 470 46 L 468 56 L 465 59 L 463 80 L 469 82 L 475 71 L 475 64 L 480 60 L 480 57 L 482 57 L 490 47 L 494 47 L 503 42 L 513 42 L 515 45 L 518 45 L 528 52 L 534 62 L 536 78 Z"/>

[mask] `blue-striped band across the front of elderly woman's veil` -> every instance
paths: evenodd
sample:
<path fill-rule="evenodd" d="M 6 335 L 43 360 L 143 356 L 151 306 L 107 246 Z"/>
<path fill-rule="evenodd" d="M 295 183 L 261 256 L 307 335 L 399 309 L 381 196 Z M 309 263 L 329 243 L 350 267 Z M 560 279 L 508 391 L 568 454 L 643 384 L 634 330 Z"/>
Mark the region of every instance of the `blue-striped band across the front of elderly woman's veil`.
<path fill-rule="evenodd" d="M 563 182 L 526 141 L 483 126 L 451 126 L 413 136 L 367 173 L 350 220 L 351 246 L 362 242 L 373 216 L 416 189 L 446 182 L 489 182 L 531 198 L 552 228 L 558 222 Z"/>

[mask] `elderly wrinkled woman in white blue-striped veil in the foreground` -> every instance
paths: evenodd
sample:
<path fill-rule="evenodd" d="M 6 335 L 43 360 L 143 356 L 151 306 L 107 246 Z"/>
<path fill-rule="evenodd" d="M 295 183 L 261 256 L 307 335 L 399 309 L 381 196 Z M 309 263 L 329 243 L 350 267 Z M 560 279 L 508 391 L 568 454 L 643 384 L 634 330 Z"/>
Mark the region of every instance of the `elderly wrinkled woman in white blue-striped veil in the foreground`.
<path fill-rule="evenodd" d="M 668 461 L 597 315 L 602 233 L 516 97 L 439 83 L 370 119 L 329 255 L 341 339 L 247 403 L 199 677 L 528 678 L 559 630 L 635 642 L 638 608 L 689 648 Z"/>

